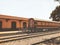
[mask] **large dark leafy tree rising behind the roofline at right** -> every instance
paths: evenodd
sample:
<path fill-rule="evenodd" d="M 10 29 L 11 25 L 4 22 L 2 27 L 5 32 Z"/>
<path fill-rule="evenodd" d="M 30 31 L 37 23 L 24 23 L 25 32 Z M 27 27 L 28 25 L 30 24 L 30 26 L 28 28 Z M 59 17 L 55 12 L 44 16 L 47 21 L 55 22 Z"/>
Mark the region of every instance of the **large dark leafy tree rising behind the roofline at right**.
<path fill-rule="evenodd" d="M 55 10 L 52 11 L 50 18 L 53 21 L 60 21 L 60 6 L 57 6 Z"/>

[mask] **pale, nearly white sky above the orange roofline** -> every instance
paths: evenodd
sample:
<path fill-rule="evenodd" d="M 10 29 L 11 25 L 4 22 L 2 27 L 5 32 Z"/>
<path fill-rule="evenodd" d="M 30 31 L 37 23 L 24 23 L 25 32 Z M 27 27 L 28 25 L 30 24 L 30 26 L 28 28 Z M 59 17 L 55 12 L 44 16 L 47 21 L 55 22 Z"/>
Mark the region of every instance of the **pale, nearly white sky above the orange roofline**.
<path fill-rule="evenodd" d="M 58 5 L 54 0 L 0 0 L 0 14 L 50 20 Z"/>

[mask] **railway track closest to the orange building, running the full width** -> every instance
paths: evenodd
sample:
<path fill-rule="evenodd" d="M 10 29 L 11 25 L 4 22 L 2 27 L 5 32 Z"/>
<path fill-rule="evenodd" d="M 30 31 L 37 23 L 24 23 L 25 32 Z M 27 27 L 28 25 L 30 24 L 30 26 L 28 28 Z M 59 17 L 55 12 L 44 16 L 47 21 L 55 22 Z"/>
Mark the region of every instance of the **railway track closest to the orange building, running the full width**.
<path fill-rule="evenodd" d="M 44 35 L 51 35 L 54 33 L 59 33 L 60 31 L 54 32 L 40 32 L 40 33 L 22 33 L 21 31 L 8 31 L 8 32 L 1 32 L 0 33 L 0 43 L 13 41 L 13 40 L 21 40 L 27 39 L 37 36 L 44 36 Z"/>

